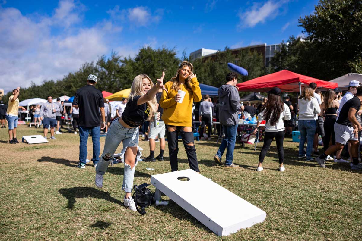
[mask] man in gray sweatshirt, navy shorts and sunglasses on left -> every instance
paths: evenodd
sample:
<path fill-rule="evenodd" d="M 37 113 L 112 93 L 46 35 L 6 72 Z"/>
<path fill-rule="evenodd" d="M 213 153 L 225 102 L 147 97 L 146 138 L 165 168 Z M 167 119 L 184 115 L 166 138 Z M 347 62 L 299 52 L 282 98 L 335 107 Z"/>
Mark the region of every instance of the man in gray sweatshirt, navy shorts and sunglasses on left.
<path fill-rule="evenodd" d="M 56 112 L 60 111 L 59 106 L 53 102 L 53 97 L 48 96 L 48 102 L 44 103 L 40 108 L 40 119 L 43 121 L 44 138 L 47 138 L 48 127 L 50 126 L 50 139 L 54 137 L 54 127 L 56 126 Z"/>

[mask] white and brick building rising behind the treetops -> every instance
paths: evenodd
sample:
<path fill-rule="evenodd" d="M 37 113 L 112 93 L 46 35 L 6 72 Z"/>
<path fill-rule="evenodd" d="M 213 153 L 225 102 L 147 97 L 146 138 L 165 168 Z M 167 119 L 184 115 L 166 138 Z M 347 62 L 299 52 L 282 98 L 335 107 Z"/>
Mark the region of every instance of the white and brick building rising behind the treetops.
<path fill-rule="evenodd" d="M 251 51 L 257 51 L 261 53 L 261 55 L 264 57 L 264 65 L 265 67 L 270 66 L 270 59 L 274 57 L 275 51 L 280 51 L 280 44 L 272 44 L 272 45 L 266 45 L 265 44 L 258 44 L 253 46 L 247 46 L 247 47 L 241 47 L 241 48 L 234 48 L 231 49 L 232 53 L 237 54 L 240 50 L 250 49 Z M 190 60 L 197 59 L 199 57 L 203 57 L 205 60 L 208 58 L 213 58 L 213 56 L 216 55 L 216 52 L 219 50 L 210 50 L 207 48 L 201 48 L 199 50 L 196 50 L 192 53 L 190 53 Z"/>

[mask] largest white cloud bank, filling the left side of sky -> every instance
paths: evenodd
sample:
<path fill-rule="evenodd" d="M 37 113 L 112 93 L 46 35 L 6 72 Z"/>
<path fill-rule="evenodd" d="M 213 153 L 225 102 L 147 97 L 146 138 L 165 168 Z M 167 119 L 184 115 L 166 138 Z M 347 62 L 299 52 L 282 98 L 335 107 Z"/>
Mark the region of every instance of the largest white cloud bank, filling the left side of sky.
<path fill-rule="evenodd" d="M 108 20 L 76 27 L 81 18 L 74 14 L 83 11 L 84 6 L 67 0 L 59 2 L 52 16 L 24 16 L 16 8 L 1 7 L 0 88 L 7 92 L 17 86 L 28 87 L 31 81 L 40 84 L 44 79 L 61 79 L 85 62 L 109 54 L 114 33 L 122 27 Z M 147 41 L 153 45 L 153 40 Z M 113 47 L 123 56 L 137 50 L 122 43 Z"/>

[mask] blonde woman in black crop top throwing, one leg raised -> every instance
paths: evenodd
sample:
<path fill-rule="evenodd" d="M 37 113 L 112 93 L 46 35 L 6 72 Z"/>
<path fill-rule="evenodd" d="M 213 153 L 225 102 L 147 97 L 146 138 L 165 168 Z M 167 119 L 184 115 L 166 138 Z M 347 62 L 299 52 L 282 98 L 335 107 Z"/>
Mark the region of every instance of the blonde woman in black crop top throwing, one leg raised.
<path fill-rule="evenodd" d="M 136 76 L 132 82 L 131 92 L 126 108 L 121 117 L 115 119 L 109 127 L 106 142 L 100 161 L 96 167 L 96 186 L 103 187 L 103 175 L 107 171 L 113 154 L 121 142 L 123 142 L 122 162 L 125 163 L 122 190 L 126 192 L 124 205 L 130 210 L 136 211 L 136 205 L 131 197 L 135 166 L 141 156 L 138 148 L 138 128 L 143 122 L 152 120 L 156 108 L 156 94 L 163 89 L 163 78 L 157 79 L 153 85 L 151 78 L 146 74 Z M 141 149 L 142 150 L 142 149 Z M 110 158 L 106 158 L 107 155 Z"/>

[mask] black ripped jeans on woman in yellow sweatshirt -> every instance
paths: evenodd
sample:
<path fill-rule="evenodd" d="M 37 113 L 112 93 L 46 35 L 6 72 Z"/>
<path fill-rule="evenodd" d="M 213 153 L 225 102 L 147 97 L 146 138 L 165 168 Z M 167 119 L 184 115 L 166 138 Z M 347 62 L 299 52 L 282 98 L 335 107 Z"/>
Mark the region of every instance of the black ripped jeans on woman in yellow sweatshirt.
<path fill-rule="evenodd" d="M 197 156 L 196 156 L 196 149 L 194 143 L 194 133 L 191 132 L 184 132 L 184 126 L 175 126 L 176 130 L 174 132 L 167 132 L 167 143 L 168 143 L 168 151 L 170 155 L 170 164 L 171 164 L 171 171 L 175 172 L 178 170 L 177 165 L 177 153 L 178 153 L 178 134 L 181 135 L 182 142 L 184 142 L 184 147 L 186 150 L 186 154 L 188 157 L 190 168 L 193 169 L 195 172 L 200 172 L 199 165 L 197 163 Z M 168 126 L 167 126 L 168 128 Z M 193 146 L 189 146 L 187 144 L 194 143 Z"/>

